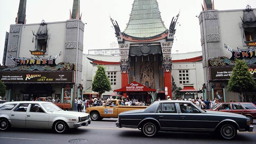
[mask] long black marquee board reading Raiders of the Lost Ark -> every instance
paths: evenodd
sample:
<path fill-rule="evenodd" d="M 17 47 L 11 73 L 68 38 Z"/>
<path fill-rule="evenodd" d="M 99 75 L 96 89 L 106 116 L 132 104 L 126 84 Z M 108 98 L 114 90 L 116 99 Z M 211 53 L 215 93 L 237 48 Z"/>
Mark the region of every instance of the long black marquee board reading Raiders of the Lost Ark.
<path fill-rule="evenodd" d="M 69 72 L 0 72 L 4 83 L 75 83 L 75 71 Z"/>

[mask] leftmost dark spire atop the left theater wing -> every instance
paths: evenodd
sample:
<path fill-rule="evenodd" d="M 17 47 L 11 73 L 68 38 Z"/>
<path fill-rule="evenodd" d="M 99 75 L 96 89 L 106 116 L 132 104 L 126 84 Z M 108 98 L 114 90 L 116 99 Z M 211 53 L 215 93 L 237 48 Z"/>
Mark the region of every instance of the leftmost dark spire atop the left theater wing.
<path fill-rule="evenodd" d="M 27 3 L 27 0 L 20 0 L 18 14 L 17 14 L 17 18 L 15 20 L 16 24 L 25 24 L 25 21 L 26 21 L 26 3 Z"/>

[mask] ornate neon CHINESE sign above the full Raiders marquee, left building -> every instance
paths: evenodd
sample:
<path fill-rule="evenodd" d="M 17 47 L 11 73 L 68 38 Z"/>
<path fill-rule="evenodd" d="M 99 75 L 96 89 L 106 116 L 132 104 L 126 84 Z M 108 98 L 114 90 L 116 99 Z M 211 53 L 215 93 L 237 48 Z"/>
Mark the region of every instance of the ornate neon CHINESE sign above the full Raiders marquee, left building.
<path fill-rule="evenodd" d="M 54 58 L 48 57 L 48 58 L 40 58 L 40 57 L 31 57 L 31 58 L 16 58 L 14 56 L 10 56 L 8 58 L 11 59 L 11 61 L 14 62 L 14 64 L 16 66 L 20 66 L 20 65 L 49 65 L 49 66 L 56 66 L 57 64 L 55 63 L 55 60 L 57 58 L 59 58 L 59 56 L 61 55 L 61 52 L 59 54 L 57 54 L 56 56 L 54 56 Z"/>

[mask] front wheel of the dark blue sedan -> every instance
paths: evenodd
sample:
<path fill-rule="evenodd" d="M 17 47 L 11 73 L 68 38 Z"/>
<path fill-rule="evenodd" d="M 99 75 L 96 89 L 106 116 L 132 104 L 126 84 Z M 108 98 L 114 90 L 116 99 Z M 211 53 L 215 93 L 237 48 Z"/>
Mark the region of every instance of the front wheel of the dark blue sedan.
<path fill-rule="evenodd" d="M 231 124 L 224 124 L 220 128 L 220 136 L 223 139 L 233 139 L 237 134 L 237 130 Z"/>

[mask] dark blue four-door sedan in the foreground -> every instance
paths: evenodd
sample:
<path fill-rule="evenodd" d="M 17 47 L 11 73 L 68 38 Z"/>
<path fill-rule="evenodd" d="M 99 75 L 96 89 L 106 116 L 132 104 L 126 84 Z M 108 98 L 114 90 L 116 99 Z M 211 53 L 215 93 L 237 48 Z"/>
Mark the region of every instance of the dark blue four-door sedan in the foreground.
<path fill-rule="evenodd" d="M 253 130 L 243 115 L 202 110 L 190 101 L 156 101 L 142 110 L 122 112 L 116 126 L 138 128 L 148 137 L 158 131 L 176 131 L 215 132 L 224 139 L 233 139 L 237 130 Z"/>

